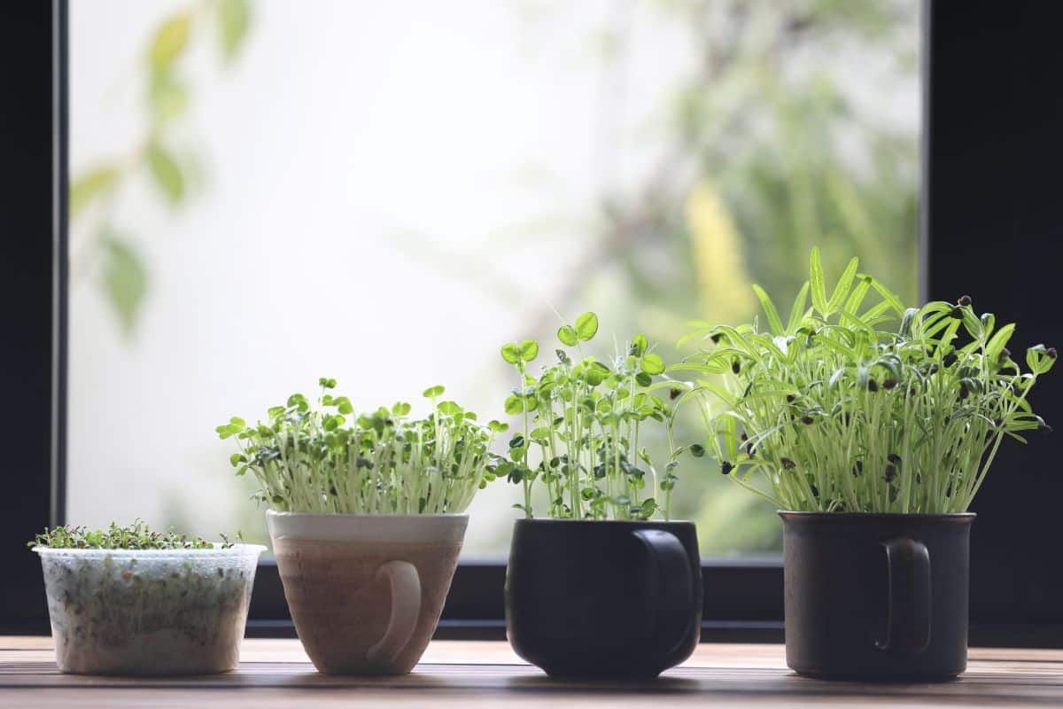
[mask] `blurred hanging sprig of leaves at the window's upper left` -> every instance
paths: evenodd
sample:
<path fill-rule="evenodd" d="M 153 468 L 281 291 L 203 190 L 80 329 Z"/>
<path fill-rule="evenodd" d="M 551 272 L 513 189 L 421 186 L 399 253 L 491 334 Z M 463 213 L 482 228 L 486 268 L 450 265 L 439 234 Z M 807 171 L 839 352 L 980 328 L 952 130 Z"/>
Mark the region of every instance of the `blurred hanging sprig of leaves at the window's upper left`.
<path fill-rule="evenodd" d="M 123 187 L 147 172 L 166 205 L 179 208 L 188 201 L 198 163 L 190 147 L 176 149 L 176 128 L 190 106 L 190 47 L 200 34 L 213 34 L 227 65 L 240 53 L 250 28 L 250 0 L 201 0 L 158 22 L 137 73 L 144 84 L 144 135 L 126 153 L 101 158 L 71 181 L 72 273 L 97 275 L 126 337 L 139 321 L 150 269 L 135 230 L 120 224 Z"/>

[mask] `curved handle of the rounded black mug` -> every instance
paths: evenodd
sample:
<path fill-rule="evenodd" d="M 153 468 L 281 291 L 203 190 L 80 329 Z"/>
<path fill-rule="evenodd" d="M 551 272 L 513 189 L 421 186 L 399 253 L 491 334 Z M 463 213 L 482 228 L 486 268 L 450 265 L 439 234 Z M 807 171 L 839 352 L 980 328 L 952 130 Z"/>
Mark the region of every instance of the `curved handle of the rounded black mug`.
<path fill-rule="evenodd" d="M 651 595 L 657 608 L 657 631 L 660 637 L 670 639 L 664 645 L 671 653 L 690 629 L 690 602 L 694 595 L 690 558 L 682 543 L 671 531 L 636 529 L 631 534 L 649 552 L 653 567 L 649 573 Z"/>

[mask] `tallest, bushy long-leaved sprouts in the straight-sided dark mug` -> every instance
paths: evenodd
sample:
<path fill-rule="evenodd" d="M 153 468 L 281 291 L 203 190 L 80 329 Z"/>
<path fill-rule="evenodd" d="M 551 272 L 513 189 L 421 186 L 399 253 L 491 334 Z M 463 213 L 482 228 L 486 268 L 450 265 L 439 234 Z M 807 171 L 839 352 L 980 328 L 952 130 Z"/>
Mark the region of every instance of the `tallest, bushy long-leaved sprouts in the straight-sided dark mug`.
<path fill-rule="evenodd" d="M 1027 350 L 1024 372 L 1006 347 L 1015 325 L 969 297 L 906 309 L 857 269 L 828 296 L 813 250 L 787 323 L 755 286 L 767 330 L 693 323 L 707 349 L 674 369 L 702 376 L 722 471 L 781 509 L 965 511 L 1005 437 L 1047 429 L 1027 396 L 1056 350 Z"/>

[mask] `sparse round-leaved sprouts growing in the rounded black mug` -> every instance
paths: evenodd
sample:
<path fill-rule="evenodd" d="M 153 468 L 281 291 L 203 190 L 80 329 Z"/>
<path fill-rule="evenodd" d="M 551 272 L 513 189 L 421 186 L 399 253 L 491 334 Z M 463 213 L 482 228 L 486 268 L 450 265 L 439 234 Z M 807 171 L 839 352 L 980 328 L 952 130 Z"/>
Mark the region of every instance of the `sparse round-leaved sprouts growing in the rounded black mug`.
<path fill-rule="evenodd" d="M 510 439 L 510 459 L 499 466 L 497 474 L 523 487 L 524 502 L 514 507 L 529 518 L 533 484 L 538 482 L 547 493 L 550 517 L 645 520 L 660 512 L 669 519 L 678 459 L 688 450 L 675 446 L 675 415 L 691 388 L 661 376 L 664 361 L 644 335 L 631 338 L 608 364 L 585 355 L 583 345 L 597 330 L 593 313 L 563 324 L 557 338 L 575 348 L 577 358 L 558 349 L 557 361 L 543 366 L 538 377 L 528 371 L 539 356 L 535 340 L 502 347 L 502 358 L 520 382 L 505 409 L 523 425 Z M 668 402 L 654 393 L 661 390 Z M 668 435 L 670 455 L 662 470 L 640 446 L 640 428 L 647 421 L 662 424 Z M 701 445 L 689 450 L 705 454 Z M 655 496 L 658 489 L 663 502 Z"/>

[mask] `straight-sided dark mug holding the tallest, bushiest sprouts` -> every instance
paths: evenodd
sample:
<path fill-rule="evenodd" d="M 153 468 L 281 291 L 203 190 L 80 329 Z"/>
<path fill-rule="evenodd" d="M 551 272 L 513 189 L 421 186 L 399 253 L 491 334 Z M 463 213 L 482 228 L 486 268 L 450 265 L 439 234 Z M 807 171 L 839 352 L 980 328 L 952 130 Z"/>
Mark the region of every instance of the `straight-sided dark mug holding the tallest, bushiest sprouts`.
<path fill-rule="evenodd" d="M 966 669 L 973 513 L 779 516 L 791 669 L 872 680 Z"/>

